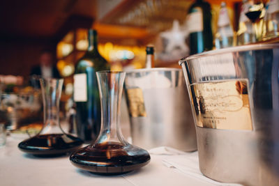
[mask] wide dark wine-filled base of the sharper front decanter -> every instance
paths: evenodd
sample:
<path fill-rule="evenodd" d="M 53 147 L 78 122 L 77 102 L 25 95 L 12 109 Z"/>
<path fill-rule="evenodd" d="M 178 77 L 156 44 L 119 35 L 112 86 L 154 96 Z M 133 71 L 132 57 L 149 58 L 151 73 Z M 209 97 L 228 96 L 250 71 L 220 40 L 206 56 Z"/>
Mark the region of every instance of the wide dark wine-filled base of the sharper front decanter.
<path fill-rule="evenodd" d="M 89 145 L 70 155 L 70 162 L 77 168 L 107 176 L 134 171 L 149 161 L 146 150 L 114 141 Z"/>

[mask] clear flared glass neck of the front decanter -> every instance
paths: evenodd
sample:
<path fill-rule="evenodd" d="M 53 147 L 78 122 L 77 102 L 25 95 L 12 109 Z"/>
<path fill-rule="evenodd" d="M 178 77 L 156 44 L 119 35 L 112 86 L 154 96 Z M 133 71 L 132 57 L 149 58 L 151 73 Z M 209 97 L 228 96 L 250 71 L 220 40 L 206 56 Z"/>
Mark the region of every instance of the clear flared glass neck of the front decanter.
<path fill-rule="evenodd" d="M 106 141 L 121 141 L 126 144 L 121 134 L 120 104 L 125 72 L 100 71 L 96 72 L 100 91 L 101 127 L 95 144 Z"/>

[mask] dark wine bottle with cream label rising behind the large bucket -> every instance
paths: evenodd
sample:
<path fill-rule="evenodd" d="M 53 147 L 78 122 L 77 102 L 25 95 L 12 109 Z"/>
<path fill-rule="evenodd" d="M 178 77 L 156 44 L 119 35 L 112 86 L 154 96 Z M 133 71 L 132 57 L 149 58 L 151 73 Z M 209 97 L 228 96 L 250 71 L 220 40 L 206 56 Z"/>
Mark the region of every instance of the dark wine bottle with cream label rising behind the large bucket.
<path fill-rule="evenodd" d="M 203 0 L 197 0 L 188 10 L 190 54 L 197 54 L 213 48 L 211 29 L 211 6 Z"/>

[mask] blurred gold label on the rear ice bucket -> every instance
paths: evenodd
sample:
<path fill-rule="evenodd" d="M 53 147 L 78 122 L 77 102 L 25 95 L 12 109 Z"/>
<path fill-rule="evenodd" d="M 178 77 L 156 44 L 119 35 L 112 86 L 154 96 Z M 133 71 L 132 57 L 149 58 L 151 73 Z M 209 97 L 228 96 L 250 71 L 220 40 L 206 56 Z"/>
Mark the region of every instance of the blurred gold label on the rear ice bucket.
<path fill-rule="evenodd" d="M 146 117 L 144 107 L 144 95 L 141 88 L 129 88 L 127 90 L 128 110 L 132 117 Z"/>

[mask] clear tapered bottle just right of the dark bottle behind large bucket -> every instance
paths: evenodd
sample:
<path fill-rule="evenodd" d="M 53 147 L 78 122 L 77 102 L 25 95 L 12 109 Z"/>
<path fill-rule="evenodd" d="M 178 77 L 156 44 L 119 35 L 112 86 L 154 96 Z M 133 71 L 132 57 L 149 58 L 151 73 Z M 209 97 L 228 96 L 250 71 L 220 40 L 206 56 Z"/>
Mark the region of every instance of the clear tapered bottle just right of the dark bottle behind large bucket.
<path fill-rule="evenodd" d="M 229 21 L 227 6 L 225 2 L 221 3 L 221 9 L 218 17 L 218 31 L 215 38 L 216 49 L 232 47 L 234 45 L 234 31 Z"/>

